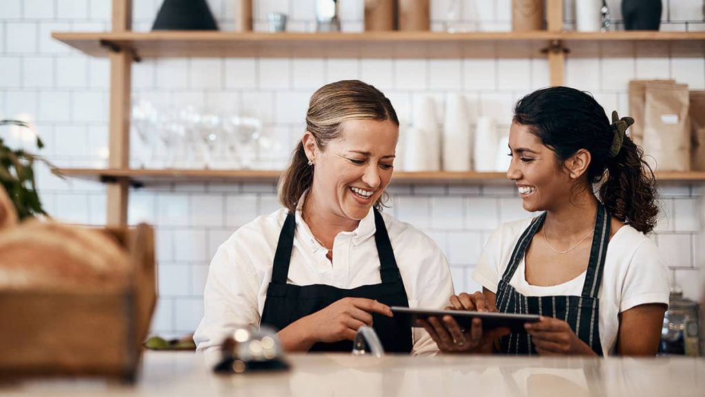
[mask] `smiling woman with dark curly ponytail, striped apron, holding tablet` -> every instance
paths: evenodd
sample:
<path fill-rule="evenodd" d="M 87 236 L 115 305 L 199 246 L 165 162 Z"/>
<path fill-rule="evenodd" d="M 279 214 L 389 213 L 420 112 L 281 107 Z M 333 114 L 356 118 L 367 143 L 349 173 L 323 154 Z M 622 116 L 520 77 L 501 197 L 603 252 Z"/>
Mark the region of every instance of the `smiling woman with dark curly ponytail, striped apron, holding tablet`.
<path fill-rule="evenodd" d="M 668 304 L 668 272 L 651 232 L 654 174 L 587 93 L 538 90 L 515 107 L 507 177 L 533 219 L 490 237 L 474 279 L 482 292 L 451 297 L 455 309 L 539 314 L 526 333 L 462 332 L 429 319 L 441 351 L 510 355 L 655 355 Z M 599 196 L 594 194 L 599 186 Z"/>

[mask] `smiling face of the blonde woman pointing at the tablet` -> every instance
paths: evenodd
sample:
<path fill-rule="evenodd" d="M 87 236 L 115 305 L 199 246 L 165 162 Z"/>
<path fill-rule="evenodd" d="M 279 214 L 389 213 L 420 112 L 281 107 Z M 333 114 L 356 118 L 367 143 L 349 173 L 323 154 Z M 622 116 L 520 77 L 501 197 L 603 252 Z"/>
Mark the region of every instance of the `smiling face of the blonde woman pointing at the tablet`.
<path fill-rule="evenodd" d="M 315 211 L 346 220 L 364 218 L 391 181 L 398 138 L 396 124 L 371 119 L 343 122 L 340 138 L 323 150 L 307 133 L 304 146 L 316 167 L 311 188 Z"/>

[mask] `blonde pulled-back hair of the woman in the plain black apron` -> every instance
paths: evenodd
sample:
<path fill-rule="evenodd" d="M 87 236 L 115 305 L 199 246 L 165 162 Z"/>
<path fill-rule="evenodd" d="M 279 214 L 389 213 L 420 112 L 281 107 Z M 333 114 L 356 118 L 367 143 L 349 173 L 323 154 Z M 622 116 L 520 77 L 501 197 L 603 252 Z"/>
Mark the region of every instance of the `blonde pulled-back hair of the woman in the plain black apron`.
<path fill-rule="evenodd" d="M 353 119 L 390 120 L 399 126 L 399 119 L 388 98 L 362 81 L 336 81 L 311 95 L 306 112 L 306 130 L 314 136 L 321 150 L 329 141 L 341 136 L 343 122 Z M 299 198 L 311 187 L 313 169 L 308 164 L 303 143 L 299 142 L 279 179 L 279 201 L 290 212 L 296 211 Z M 377 200 L 374 206 L 379 209 L 381 200 Z"/>

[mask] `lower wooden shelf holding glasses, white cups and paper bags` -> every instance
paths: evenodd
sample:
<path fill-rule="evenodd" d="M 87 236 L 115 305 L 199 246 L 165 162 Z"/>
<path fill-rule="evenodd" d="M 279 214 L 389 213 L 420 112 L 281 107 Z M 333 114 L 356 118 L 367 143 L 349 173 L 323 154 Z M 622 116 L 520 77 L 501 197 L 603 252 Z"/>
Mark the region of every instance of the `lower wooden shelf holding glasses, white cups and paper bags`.
<path fill-rule="evenodd" d="M 280 170 L 108 170 L 61 168 L 55 174 L 99 182 L 128 180 L 133 186 L 171 182 L 276 183 Z M 705 182 L 705 172 L 658 172 L 658 182 Z M 510 184 L 505 172 L 395 172 L 393 184 Z"/>

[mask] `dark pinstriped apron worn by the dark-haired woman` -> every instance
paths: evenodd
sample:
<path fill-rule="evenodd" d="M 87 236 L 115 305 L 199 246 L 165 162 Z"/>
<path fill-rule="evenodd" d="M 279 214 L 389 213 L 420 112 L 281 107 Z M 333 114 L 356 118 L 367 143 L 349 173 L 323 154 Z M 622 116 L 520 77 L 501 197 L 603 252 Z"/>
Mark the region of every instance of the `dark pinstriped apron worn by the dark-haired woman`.
<path fill-rule="evenodd" d="M 599 300 L 597 299 L 602 282 L 602 272 L 610 239 L 609 213 L 601 203 L 597 203 L 595 231 L 592 237 L 590 259 L 587 265 L 585 283 L 580 296 L 527 297 L 517 292 L 509 280 L 512 279 L 520 261 L 529 247 L 539 227 L 544 223 L 546 213 L 532 220 L 514 247 L 509 264 L 497 288 L 497 309 L 504 313 L 539 314 L 566 321 L 575 335 L 590 348 L 602 355 L 599 332 Z M 528 333 L 510 333 L 500 339 L 500 352 L 509 355 L 534 355 L 536 349 Z"/>

